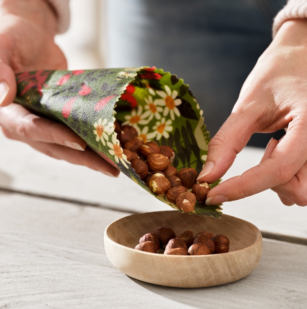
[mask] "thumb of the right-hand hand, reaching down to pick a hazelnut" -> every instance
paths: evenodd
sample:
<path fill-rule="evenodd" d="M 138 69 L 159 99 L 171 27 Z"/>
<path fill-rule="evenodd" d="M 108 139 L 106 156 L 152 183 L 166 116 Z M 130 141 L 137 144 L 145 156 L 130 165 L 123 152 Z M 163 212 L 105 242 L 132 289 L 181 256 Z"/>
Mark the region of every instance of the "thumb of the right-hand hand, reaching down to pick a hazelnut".
<path fill-rule="evenodd" d="M 256 122 L 245 112 L 232 112 L 208 145 L 206 164 L 197 178 L 198 182 L 214 183 L 232 165 L 236 155 L 256 132 Z"/>

